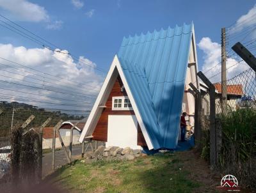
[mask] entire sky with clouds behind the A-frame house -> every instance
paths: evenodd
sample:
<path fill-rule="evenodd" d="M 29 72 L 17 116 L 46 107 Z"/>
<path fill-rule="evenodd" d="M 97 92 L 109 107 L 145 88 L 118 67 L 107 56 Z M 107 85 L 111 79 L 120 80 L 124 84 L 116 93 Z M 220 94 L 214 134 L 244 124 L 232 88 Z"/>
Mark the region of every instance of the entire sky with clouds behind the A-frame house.
<path fill-rule="evenodd" d="M 66 86 L 65 89 L 68 91 L 76 86 L 75 91 L 77 93 L 85 92 L 88 94 L 88 97 L 82 101 L 92 102 L 93 99 L 90 98 L 95 98 L 106 76 L 106 73 L 101 71 L 108 72 L 111 61 L 118 52 L 124 36 L 140 35 L 141 32 L 147 33 L 147 31 L 154 31 L 154 29 L 159 30 L 161 27 L 164 29 L 168 26 L 175 27 L 176 24 L 181 26 L 184 22 L 189 24 L 193 21 L 198 69 L 204 72 L 211 69 L 212 66 L 216 66 L 207 72 L 211 76 L 219 72 L 221 68 L 218 65 L 221 56 L 221 27 L 231 26 L 228 28 L 228 35 L 232 36 L 232 34 L 240 33 L 246 27 L 255 24 L 256 19 L 251 19 L 248 22 L 248 18 L 255 16 L 253 15 L 256 13 L 255 4 L 256 1 L 252 0 L 0 0 L 1 15 L 44 38 L 61 50 L 61 52 L 54 52 L 46 49 L 42 43 L 35 43 L 0 25 L 0 57 L 63 79 L 61 83 L 54 82 L 53 79 L 56 77 L 51 77 L 51 75 L 39 76 L 40 81 L 37 81 L 37 86 L 41 88 L 42 85 L 40 84 L 44 84 L 43 88 L 45 88 L 49 87 L 52 81 L 55 83 L 54 86 L 59 88 L 59 91 L 63 91 L 63 86 Z M 0 19 L 4 20 L 3 18 Z M 8 23 L 10 24 L 10 22 Z M 4 23 L 0 21 L 0 24 Z M 254 36 L 256 37 L 256 33 L 252 31 L 248 40 Z M 229 42 L 227 50 L 230 50 L 232 43 L 235 42 Z M 77 61 L 74 56 L 78 59 Z M 227 67 L 234 65 L 237 61 L 239 61 L 237 56 L 228 58 Z M 1 71 L 0 75 L 6 76 L 0 77 L 2 81 L 17 82 L 22 79 L 22 84 L 29 84 L 29 82 L 24 81 L 36 82 L 35 78 L 38 78 L 38 74 L 40 74 L 35 70 L 32 70 L 35 74 L 28 73 L 32 72 L 31 69 L 17 66 L 3 59 L 0 62 L 5 65 L 14 65 L 19 70 L 16 69 L 15 71 L 15 69 L 9 69 L 8 66 L 3 65 L 0 65 L 0 69 L 9 69 L 9 71 L 19 72 L 23 75 L 11 75 L 10 72 Z M 230 68 L 228 77 L 246 70 L 247 67 L 242 62 L 238 67 Z M 15 77 L 16 80 L 8 78 L 10 76 Z M 213 77 L 212 81 L 220 81 L 219 78 L 219 76 Z M 17 85 L 13 87 L 18 89 Z M 61 99 L 50 99 L 48 96 L 64 97 L 66 100 L 72 98 L 77 102 L 81 100 L 78 96 L 80 94 L 65 96 L 61 92 L 52 92 L 53 88 L 38 91 L 38 89 L 25 88 L 24 86 L 24 88 L 19 89 L 24 92 L 38 93 L 38 95 L 42 95 L 40 98 L 45 101 L 65 102 Z M 13 95 L 13 100 L 15 100 L 13 91 L 5 90 L 4 93 Z M 19 93 L 18 96 L 27 95 Z M 32 97 L 32 95 L 28 96 Z M 86 107 L 90 108 L 89 105 Z"/>

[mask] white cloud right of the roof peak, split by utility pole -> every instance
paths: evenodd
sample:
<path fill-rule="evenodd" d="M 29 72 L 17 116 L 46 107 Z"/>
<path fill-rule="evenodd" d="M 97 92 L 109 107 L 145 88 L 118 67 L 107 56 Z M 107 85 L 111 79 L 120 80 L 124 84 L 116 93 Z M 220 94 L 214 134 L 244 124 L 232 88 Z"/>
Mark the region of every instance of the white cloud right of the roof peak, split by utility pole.
<path fill-rule="evenodd" d="M 211 38 L 204 37 L 198 43 L 199 49 L 204 52 L 204 64 L 202 66 L 202 71 L 206 72 L 206 77 L 210 78 L 213 75 L 221 72 L 221 45 L 217 42 L 212 42 Z M 235 65 L 241 58 L 234 56 L 233 58 L 227 59 L 227 79 L 230 79 L 237 75 L 239 72 L 243 72 L 248 69 L 248 65 L 243 61 Z M 235 65 L 235 66 L 233 66 Z M 215 66 L 215 67 L 214 67 Z M 231 67 L 233 66 L 233 67 Z M 214 67 L 214 68 L 213 68 Z M 210 70 L 211 69 L 211 70 Z M 209 71 L 208 71 L 209 70 Z M 207 72 L 208 71 L 208 72 Z M 221 81 L 221 73 L 212 77 L 210 79 L 212 82 Z"/>

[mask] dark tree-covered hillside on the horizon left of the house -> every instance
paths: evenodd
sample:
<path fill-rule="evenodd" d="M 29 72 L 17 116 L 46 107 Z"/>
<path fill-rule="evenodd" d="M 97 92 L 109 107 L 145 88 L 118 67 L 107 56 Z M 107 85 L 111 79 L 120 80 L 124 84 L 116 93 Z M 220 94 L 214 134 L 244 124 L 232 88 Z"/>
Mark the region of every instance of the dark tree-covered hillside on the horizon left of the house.
<path fill-rule="evenodd" d="M 28 105 L 19 102 L 0 102 L 0 137 L 6 137 L 10 131 L 12 125 L 12 112 L 15 107 L 13 125 L 23 123 L 31 114 L 35 116 L 35 119 L 29 124 L 29 127 L 39 127 L 44 123 L 47 118 L 51 117 L 52 120 L 47 125 L 53 127 L 59 120 L 81 120 L 86 116 L 76 116 L 72 114 L 62 113 L 61 111 L 47 111 L 40 109 L 33 105 Z M 1 113 L 2 112 L 2 113 Z"/>

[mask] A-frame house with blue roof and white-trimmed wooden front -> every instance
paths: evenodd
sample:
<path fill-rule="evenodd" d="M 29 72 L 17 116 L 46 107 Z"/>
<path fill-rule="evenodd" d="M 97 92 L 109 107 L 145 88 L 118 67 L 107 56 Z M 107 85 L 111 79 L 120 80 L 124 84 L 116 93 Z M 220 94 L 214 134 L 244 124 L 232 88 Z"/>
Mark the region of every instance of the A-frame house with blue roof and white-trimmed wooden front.
<path fill-rule="evenodd" d="M 193 125 L 196 77 L 193 24 L 124 38 L 79 141 L 91 136 L 106 146 L 176 148 L 180 114 Z M 182 105 L 183 102 L 183 105 Z"/>

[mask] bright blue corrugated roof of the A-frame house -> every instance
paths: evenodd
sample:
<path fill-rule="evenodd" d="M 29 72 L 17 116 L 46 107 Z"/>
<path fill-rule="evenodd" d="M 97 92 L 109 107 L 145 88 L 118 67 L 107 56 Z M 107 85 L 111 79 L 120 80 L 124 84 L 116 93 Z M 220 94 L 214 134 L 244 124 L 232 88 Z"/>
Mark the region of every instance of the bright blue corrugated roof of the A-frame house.
<path fill-rule="evenodd" d="M 129 36 L 117 54 L 154 149 L 175 148 L 193 24 Z"/>

